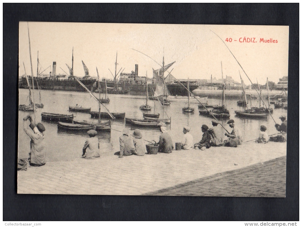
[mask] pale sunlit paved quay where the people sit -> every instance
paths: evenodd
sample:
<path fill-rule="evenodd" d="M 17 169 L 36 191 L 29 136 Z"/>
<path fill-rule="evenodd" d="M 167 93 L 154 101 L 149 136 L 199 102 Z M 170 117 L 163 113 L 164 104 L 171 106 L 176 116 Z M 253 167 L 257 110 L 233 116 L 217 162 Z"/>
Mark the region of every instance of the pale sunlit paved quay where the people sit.
<path fill-rule="evenodd" d="M 173 151 L 170 154 L 131 155 L 122 159 L 116 155 L 103 156 L 94 160 L 79 157 L 72 161 L 47 162 L 41 167 L 30 167 L 27 171 L 18 171 L 17 190 L 18 193 L 26 194 L 153 195 L 164 188 L 205 177 L 213 178 L 212 176 L 215 174 L 261 164 L 285 155 L 286 143 L 256 144 L 250 142 L 237 148 L 211 147 L 205 151 L 181 150 Z M 285 164 L 276 165 L 275 169 L 280 173 L 282 180 L 280 187 L 275 188 L 272 193 L 284 196 L 286 166 Z M 252 175 L 250 175 L 250 171 L 252 171 Z M 250 188 L 251 192 L 256 193 L 258 186 L 273 190 L 271 189 L 274 184 L 273 176 L 271 181 L 266 178 L 258 178 L 256 180 L 258 185 L 254 185 L 254 170 L 250 169 L 250 171 L 242 172 L 241 175 L 246 187 L 253 185 Z M 226 175 L 224 176 L 226 177 Z M 219 176 L 217 177 L 219 178 Z M 228 177 L 232 178 L 232 174 Z M 213 181 L 213 183 L 215 182 L 217 182 L 217 188 L 221 190 L 207 195 L 227 196 L 232 191 L 231 187 L 237 191 L 240 189 L 240 185 L 235 185 L 235 183 L 226 184 L 223 181 Z M 203 184 L 200 187 L 207 186 Z M 228 192 L 223 191 L 225 187 L 229 188 Z M 179 191 L 182 190 L 179 189 Z M 189 191 L 181 193 L 182 195 L 192 195 L 192 192 Z M 169 195 L 177 195 L 177 193 Z M 250 195 L 252 194 L 241 194 L 241 196 Z"/>

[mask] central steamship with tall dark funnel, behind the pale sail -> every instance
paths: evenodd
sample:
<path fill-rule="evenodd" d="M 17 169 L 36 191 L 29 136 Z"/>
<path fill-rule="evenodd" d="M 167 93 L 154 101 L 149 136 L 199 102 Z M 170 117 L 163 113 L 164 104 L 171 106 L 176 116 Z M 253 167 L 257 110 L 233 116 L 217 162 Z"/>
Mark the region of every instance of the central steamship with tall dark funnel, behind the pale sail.
<path fill-rule="evenodd" d="M 167 70 L 173 63 L 165 66 Z M 162 69 L 155 70 L 158 75 L 162 75 Z M 165 80 L 166 81 L 166 80 Z M 185 87 L 187 87 L 187 81 L 180 81 Z M 107 80 L 107 87 L 115 88 L 116 90 L 129 90 L 129 94 L 132 95 L 145 95 L 148 83 L 148 93 L 153 95 L 156 90 L 156 79 L 147 78 L 146 76 L 138 76 L 138 65 L 135 65 L 135 71 L 131 73 L 120 73 L 119 81 Z M 100 81 L 101 90 L 105 89 L 105 79 Z M 186 88 L 179 84 L 178 81 L 167 81 L 166 86 L 171 95 L 187 96 L 188 92 Z M 198 88 L 197 82 L 190 82 L 190 91 Z"/>

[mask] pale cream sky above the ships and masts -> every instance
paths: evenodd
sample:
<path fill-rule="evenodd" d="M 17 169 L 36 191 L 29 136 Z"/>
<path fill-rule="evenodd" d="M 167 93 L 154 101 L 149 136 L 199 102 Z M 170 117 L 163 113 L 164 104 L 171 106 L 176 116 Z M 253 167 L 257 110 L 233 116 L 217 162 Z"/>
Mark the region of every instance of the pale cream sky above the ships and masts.
<path fill-rule="evenodd" d="M 84 76 L 82 60 L 91 76 L 113 79 L 115 57 L 117 72 L 122 67 L 124 73 L 135 70 L 138 76 L 152 77 L 152 68 L 160 66 L 142 53 L 162 64 L 176 61 L 172 75 L 177 79 L 210 79 L 232 76 L 240 82 L 239 71 L 246 85 L 250 82 L 223 42 L 232 51 L 252 82 L 256 78 L 260 84 L 278 82 L 288 76 L 288 26 L 258 25 L 168 25 L 168 24 L 105 24 L 105 23 L 59 23 L 29 22 L 29 35 L 34 76 L 37 75 L 37 52 L 39 62 L 52 71 L 56 62 L 56 73 L 69 73 L 72 48 L 74 48 L 74 75 Z M 243 38 L 255 38 L 257 43 L 239 42 Z M 232 42 L 226 42 L 232 38 Z M 277 43 L 260 43 L 260 38 L 277 40 Z M 234 41 L 237 40 L 237 41 Z M 138 53 L 136 49 L 142 53 Z M 164 52 L 164 53 L 163 53 Z M 27 22 L 19 24 L 19 76 L 31 74 Z M 61 70 L 61 68 L 63 70 Z M 40 67 L 39 67 L 40 70 Z M 42 72 L 43 69 L 40 70 Z"/>

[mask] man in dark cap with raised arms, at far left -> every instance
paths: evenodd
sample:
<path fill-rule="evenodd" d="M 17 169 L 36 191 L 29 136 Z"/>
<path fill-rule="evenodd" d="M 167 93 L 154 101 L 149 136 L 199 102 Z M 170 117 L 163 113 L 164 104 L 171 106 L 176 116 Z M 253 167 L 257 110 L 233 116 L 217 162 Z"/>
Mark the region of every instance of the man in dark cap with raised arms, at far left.
<path fill-rule="evenodd" d="M 30 120 L 31 127 L 26 123 L 27 120 Z M 46 163 L 46 155 L 44 150 L 44 135 L 45 127 L 43 124 L 38 123 L 36 127 L 34 127 L 33 119 L 28 115 L 23 118 L 23 129 L 24 132 L 31 139 L 30 141 L 30 152 L 29 152 L 29 165 L 31 166 L 41 166 Z"/>

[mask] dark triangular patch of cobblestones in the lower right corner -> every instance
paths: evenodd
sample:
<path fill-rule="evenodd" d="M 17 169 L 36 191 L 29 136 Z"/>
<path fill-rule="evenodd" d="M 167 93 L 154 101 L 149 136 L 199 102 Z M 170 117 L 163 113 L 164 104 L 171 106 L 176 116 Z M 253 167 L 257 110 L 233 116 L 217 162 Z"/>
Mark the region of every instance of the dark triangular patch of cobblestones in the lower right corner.
<path fill-rule="evenodd" d="M 286 156 L 146 195 L 285 197 Z"/>

